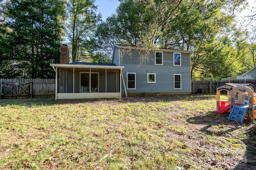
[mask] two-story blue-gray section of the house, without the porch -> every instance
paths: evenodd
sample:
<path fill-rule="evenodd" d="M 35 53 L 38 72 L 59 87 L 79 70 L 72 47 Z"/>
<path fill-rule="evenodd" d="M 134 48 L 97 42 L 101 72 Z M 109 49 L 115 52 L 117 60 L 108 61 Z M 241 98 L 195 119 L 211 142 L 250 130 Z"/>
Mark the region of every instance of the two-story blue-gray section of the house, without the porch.
<path fill-rule="evenodd" d="M 122 72 L 128 94 L 190 94 L 191 51 L 158 49 L 150 51 L 149 60 L 141 63 L 141 49 L 114 46 L 112 63 L 124 66 Z"/>

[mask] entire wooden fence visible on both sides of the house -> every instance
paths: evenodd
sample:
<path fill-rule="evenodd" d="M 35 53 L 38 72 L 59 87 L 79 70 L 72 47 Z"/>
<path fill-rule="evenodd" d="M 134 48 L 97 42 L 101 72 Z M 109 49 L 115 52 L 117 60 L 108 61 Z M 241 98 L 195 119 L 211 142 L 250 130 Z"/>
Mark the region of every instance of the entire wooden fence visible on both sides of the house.
<path fill-rule="evenodd" d="M 251 83 L 256 80 L 191 80 L 191 93 L 216 93 L 216 87 L 224 83 Z M 0 79 L 0 99 L 55 97 L 55 79 Z"/>

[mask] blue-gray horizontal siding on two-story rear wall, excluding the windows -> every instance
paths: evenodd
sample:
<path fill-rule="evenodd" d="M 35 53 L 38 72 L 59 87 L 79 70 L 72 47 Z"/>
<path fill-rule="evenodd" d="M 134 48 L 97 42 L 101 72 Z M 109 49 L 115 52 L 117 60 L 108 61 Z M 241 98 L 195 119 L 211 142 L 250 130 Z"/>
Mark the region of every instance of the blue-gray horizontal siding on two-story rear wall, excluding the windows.
<path fill-rule="evenodd" d="M 163 52 L 163 65 L 155 65 L 153 52 L 150 61 L 144 64 L 140 64 L 138 51 L 132 51 L 131 56 L 123 57 L 120 66 L 124 66 L 123 73 L 126 88 L 126 73 L 136 73 L 136 90 L 127 90 L 127 92 L 190 92 L 190 54 L 181 52 L 181 66 L 174 66 L 173 54 L 173 52 Z M 156 83 L 147 82 L 147 73 L 156 74 Z M 174 89 L 174 74 L 181 74 L 182 89 Z M 122 92 L 124 92 L 124 89 L 122 89 Z"/>

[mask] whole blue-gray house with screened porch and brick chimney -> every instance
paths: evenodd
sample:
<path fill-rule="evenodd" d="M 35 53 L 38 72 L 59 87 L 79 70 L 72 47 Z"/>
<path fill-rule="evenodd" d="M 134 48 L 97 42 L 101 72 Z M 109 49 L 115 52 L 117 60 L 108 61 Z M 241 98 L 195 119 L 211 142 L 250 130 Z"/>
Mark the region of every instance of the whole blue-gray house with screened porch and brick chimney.
<path fill-rule="evenodd" d="M 140 63 L 142 47 L 115 45 L 112 64 L 69 63 L 60 47 L 55 99 L 118 98 L 123 94 L 190 94 L 191 51 L 158 49 Z M 125 53 L 129 51 L 129 53 Z M 124 53 L 123 53 L 124 52 Z"/>

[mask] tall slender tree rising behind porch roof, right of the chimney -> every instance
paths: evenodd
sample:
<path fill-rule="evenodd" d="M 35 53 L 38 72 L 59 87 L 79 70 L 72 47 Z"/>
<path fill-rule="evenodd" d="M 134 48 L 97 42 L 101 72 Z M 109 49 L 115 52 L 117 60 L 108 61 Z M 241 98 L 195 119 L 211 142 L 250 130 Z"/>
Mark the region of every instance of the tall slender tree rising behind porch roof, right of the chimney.
<path fill-rule="evenodd" d="M 96 15 L 95 0 L 69 0 L 68 39 L 72 61 L 90 61 L 94 55 L 94 30 L 101 16 Z M 93 57 L 92 57 L 93 58 Z"/>

